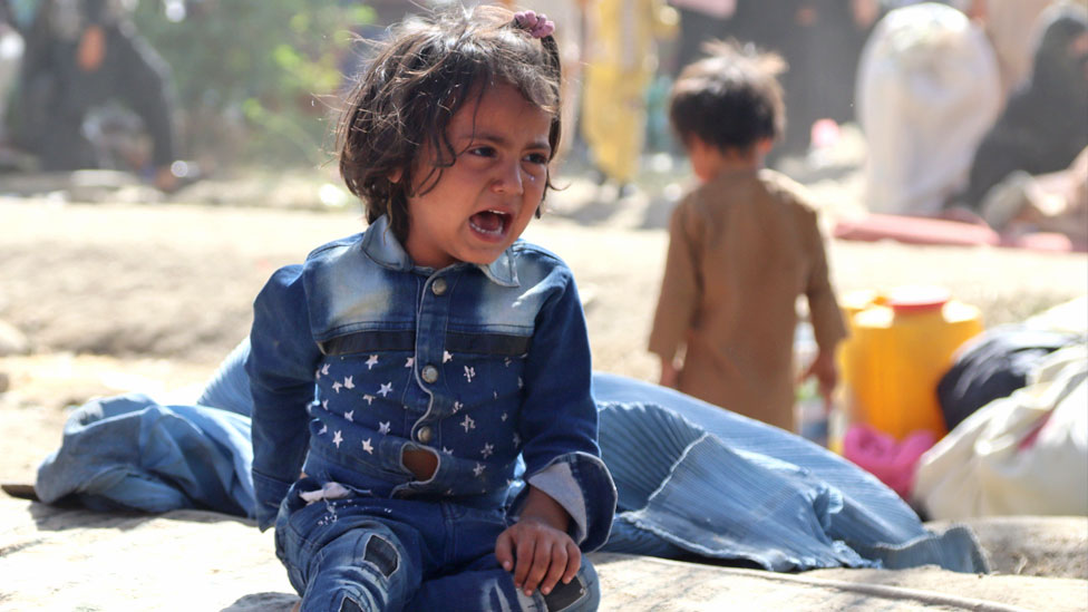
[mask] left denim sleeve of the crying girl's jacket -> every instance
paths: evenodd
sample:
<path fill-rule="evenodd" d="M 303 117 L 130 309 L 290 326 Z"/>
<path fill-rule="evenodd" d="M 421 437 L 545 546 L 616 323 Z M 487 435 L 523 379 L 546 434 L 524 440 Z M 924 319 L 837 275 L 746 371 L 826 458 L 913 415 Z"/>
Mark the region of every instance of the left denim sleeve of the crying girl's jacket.
<path fill-rule="evenodd" d="M 282 268 L 253 302 L 245 371 L 253 395 L 253 488 L 261 530 L 298 479 L 310 435 L 313 372 L 321 357 L 310 333 L 302 266 Z"/>

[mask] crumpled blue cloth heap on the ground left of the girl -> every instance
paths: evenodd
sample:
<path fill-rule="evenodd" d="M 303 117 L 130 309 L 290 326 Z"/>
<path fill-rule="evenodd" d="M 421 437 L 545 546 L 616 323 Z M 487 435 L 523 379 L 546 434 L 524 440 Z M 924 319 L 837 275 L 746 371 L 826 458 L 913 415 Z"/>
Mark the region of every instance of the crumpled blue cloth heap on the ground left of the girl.
<path fill-rule="evenodd" d="M 93 509 L 205 508 L 253 516 L 250 419 L 207 406 L 161 406 L 143 394 L 90 401 L 38 468 L 47 503 Z"/>

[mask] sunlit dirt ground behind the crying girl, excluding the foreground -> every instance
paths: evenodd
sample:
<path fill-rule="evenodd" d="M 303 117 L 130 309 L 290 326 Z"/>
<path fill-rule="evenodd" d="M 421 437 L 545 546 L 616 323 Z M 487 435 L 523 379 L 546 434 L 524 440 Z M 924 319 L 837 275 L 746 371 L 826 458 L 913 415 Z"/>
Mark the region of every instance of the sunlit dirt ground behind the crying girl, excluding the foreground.
<path fill-rule="evenodd" d="M 198 185 L 187 198 L 153 204 L 123 203 L 146 198 L 119 188 L 85 190 L 93 203 L 0 195 L 0 322 L 29 348 L 0 357 L 0 480 L 33 479 L 72 405 L 200 386 L 247 332 L 252 299 L 278 266 L 363 227 L 358 207 L 342 205 L 329 183 L 283 183 L 291 197 L 310 194 L 298 201 L 313 205 L 299 207 L 283 205 L 274 188 Z M 825 222 L 849 214 L 856 181 L 810 186 Z M 667 243 L 670 201 L 660 193 L 669 188 L 612 202 L 572 181 L 526 232 L 574 270 L 599 370 L 657 376 L 644 343 Z M 239 205 L 254 201 L 270 205 Z M 1088 293 L 1082 253 L 836 241 L 828 250 L 841 293 L 943 284 L 979 305 L 987 324 Z"/>

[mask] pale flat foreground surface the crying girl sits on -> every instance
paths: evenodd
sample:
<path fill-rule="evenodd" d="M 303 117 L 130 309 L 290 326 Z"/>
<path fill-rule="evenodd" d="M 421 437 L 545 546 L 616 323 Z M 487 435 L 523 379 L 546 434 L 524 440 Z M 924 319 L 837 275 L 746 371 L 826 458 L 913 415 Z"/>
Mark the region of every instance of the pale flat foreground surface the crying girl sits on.
<path fill-rule="evenodd" d="M 590 556 L 602 611 L 1084 610 L 1088 581 L 907 571 L 787 575 Z M 95 513 L 0 498 L 0 610 L 286 612 L 298 601 L 272 533 L 201 511 Z"/>

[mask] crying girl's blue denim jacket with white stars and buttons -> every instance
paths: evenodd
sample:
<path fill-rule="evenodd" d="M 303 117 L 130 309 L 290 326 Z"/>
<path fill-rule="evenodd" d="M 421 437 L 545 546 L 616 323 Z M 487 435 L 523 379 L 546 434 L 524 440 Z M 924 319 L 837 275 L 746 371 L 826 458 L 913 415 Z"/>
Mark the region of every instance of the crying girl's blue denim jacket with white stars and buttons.
<path fill-rule="evenodd" d="M 415 266 L 381 217 L 276 271 L 250 339 L 261 528 L 300 469 L 372 497 L 502 507 L 521 455 L 583 550 L 608 537 L 615 487 L 585 320 L 552 253 L 518 241 L 489 265 L 436 271 Z M 427 480 L 401 459 L 419 448 L 438 458 Z"/>

